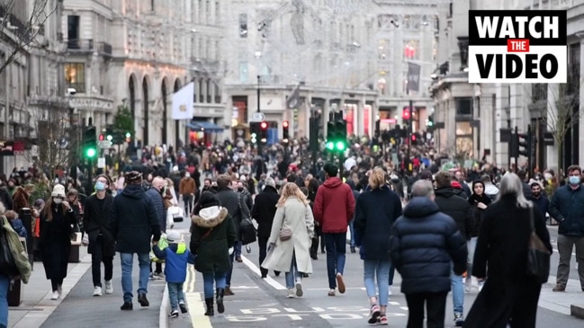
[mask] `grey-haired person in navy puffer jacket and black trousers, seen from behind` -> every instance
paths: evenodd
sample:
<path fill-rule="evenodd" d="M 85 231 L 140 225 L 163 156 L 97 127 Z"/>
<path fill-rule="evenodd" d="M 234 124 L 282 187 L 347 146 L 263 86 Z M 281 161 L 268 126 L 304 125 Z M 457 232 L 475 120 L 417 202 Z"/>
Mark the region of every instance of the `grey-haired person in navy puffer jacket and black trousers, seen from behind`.
<path fill-rule="evenodd" d="M 401 274 L 408 326 L 423 326 L 427 306 L 428 327 L 444 327 L 453 262 L 454 273 L 461 275 L 466 268 L 466 242 L 454 219 L 440 213 L 432 182 L 415 182 L 411 195 L 391 230 L 391 262 Z"/>

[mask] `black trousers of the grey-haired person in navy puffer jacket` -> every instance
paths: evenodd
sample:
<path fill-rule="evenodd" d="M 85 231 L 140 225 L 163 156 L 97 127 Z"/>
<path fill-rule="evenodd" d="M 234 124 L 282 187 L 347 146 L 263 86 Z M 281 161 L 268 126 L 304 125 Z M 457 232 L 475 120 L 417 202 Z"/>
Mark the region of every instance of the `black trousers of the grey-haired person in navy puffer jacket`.
<path fill-rule="evenodd" d="M 408 328 L 424 328 L 424 305 L 427 328 L 444 328 L 447 295 L 448 292 L 406 294 L 409 308 Z"/>

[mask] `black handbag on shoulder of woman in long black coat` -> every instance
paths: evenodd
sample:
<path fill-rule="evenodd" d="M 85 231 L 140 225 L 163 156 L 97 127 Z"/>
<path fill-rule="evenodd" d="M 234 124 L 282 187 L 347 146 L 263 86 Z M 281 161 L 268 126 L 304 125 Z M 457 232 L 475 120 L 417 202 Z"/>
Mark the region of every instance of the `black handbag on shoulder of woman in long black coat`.
<path fill-rule="evenodd" d="M 544 242 L 535 234 L 534 208 L 529 209 L 529 226 L 531 235 L 527 244 L 527 266 L 526 274 L 535 277 L 540 283 L 547 282 L 550 275 L 550 251 L 545 247 Z"/>

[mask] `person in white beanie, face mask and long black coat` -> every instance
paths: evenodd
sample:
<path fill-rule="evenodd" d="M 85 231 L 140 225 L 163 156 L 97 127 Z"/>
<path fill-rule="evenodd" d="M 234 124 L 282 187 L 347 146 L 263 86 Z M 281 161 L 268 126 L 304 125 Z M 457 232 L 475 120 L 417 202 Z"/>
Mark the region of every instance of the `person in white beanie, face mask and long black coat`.
<path fill-rule="evenodd" d="M 65 186 L 57 184 L 40 212 L 39 249 L 42 265 L 53 291 L 50 299 L 61 297 L 63 279 L 67 277 L 67 265 L 71 253 L 71 233 L 75 224 L 73 208 L 65 200 Z"/>

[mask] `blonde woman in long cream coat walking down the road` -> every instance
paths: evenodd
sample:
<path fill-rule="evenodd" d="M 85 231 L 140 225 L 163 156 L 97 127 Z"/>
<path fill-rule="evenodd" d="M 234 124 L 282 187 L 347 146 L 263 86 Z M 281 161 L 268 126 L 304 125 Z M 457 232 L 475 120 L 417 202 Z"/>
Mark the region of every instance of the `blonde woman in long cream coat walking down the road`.
<path fill-rule="evenodd" d="M 302 273 L 312 273 L 310 244 L 314 236 L 314 217 L 309 200 L 296 183 L 284 184 L 280 195 L 268 239 L 269 251 L 262 267 L 286 272 L 287 297 L 301 297 Z M 288 240 L 280 238 L 283 227 L 292 231 Z"/>

